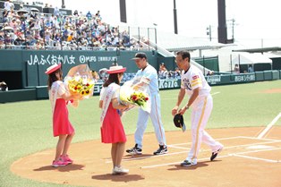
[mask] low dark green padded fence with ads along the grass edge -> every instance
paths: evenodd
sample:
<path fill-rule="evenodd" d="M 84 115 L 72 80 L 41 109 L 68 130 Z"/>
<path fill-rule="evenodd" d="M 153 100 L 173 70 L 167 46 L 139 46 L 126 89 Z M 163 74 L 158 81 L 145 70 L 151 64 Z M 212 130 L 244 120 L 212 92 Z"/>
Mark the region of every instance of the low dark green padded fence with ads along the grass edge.
<path fill-rule="evenodd" d="M 274 81 L 281 79 L 281 71 L 264 71 L 241 74 L 221 74 L 206 76 L 210 86 L 250 83 L 255 81 Z M 159 89 L 179 89 L 180 79 L 159 80 Z M 102 84 L 96 84 L 94 95 L 98 95 Z M 0 92 L 0 103 L 47 99 L 47 86 L 37 86 L 30 89 L 17 89 Z"/>

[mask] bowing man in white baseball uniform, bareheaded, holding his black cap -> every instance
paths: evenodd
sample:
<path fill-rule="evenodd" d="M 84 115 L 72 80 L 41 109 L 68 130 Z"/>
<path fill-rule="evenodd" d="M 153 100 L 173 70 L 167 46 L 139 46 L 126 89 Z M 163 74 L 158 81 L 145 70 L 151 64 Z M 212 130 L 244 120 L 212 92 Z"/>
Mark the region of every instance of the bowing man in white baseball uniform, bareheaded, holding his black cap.
<path fill-rule="evenodd" d="M 192 148 L 181 166 L 192 166 L 197 164 L 197 156 L 200 150 L 201 142 L 209 145 L 212 155 L 212 161 L 217 157 L 224 146 L 214 140 L 208 132 L 205 132 L 205 126 L 209 120 L 213 108 L 213 98 L 210 95 L 211 88 L 205 80 L 203 73 L 190 64 L 191 55 L 187 51 L 180 51 L 176 54 L 175 62 L 183 70 L 182 84 L 175 107 L 172 109 L 172 115 L 183 115 L 189 107 L 192 108 Z M 188 103 L 179 109 L 185 93 L 189 95 Z"/>

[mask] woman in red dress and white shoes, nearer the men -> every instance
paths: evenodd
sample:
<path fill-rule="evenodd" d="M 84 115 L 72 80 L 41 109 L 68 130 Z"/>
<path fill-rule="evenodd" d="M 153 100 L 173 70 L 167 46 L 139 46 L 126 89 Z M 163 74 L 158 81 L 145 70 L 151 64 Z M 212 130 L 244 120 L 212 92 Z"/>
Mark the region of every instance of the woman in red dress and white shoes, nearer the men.
<path fill-rule="evenodd" d="M 101 141 L 103 143 L 111 143 L 111 157 L 113 162 L 112 174 L 127 174 L 128 169 L 121 166 L 121 161 L 125 149 L 126 135 L 123 130 L 118 111 L 127 109 L 128 106 L 123 106 L 118 102 L 118 94 L 120 89 L 120 81 L 123 78 L 123 72 L 126 68 L 123 66 L 112 66 L 107 71 L 109 77 L 103 85 L 100 92 L 99 107 L 102 108 L 100 122 L 102 123 Z"/>

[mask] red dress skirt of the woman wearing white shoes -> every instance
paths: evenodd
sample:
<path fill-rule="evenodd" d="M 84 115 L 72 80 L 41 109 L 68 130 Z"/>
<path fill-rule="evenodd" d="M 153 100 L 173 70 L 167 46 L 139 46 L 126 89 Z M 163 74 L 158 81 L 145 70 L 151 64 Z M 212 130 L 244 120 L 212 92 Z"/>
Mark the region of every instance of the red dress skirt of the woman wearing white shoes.
<path fill-rule="evenodd" d="M 117 110 L 112 106 L 112 103 L 108 106 L 100 132 L 101 142 L 103 143 L 127 141 L 120 115 L 118 115 Z"/>

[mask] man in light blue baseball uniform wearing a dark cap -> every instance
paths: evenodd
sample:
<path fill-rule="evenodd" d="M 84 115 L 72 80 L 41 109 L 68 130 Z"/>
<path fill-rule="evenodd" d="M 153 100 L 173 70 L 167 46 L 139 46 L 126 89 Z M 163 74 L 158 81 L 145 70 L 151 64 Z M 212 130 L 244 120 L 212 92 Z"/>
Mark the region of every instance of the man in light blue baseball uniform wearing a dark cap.
<path fill-rule="evenodd" d="M 150 113 L 148 113 L 142 110 L 141 108 L 139 109 L 137 129 L 134 133 L 134 140 L 136 144 L 132 149 L 127 149 L 126 152 L 132 155 L 141 154 L 143 133 L 147 128 L 148 120 L 150 117 L 159 144 L 159 149 L 156 150 L 153 154 L 166 154 L 168 151 L 166 148 L 165 130 L 161 121 L 158 72 L 153 66 L 151 66 L 147 62 L 147 55 L 145 55 L 144 53 L 137 53 L 132 59 L 135 61 L 136 65 L 140 69 L 133 78 L 133 81 L 139 82 L 134 86 L 134 88 L 138 89 L 138 87 L 142 87 L 144 84 L 149 85 L 149 99 L 151 102 L 151 111 Z"/>

